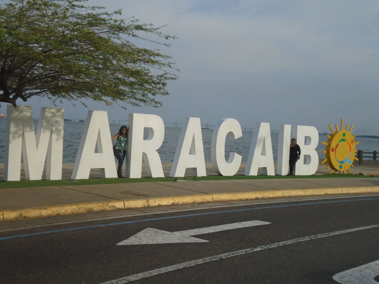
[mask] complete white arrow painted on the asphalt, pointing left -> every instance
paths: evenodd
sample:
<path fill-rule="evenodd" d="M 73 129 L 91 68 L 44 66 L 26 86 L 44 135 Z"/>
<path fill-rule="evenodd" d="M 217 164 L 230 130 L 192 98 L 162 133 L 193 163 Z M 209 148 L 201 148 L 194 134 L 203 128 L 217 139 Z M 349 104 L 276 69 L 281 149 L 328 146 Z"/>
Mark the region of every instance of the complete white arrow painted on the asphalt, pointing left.
<path fill-rule="evenodd" d="M 147 228 L 143 231 L 135 234 L 129 239 L 123 240 L 117 243 L 117 245 L 144 245 L 152 243 L 199 243 L 199 242 L 209 242 L 208 240 L 197 239 L 194 235 L 208 234 L 219 231 L 246 228 L 251 226 L 266 225 L 269 222 L 263 221 L 247 221 L 240 223 L 232 223 L 219 226 L 211 226 L 199 229 L 185 230 L 179 232 L 167 232 L 158 229 Z"/>

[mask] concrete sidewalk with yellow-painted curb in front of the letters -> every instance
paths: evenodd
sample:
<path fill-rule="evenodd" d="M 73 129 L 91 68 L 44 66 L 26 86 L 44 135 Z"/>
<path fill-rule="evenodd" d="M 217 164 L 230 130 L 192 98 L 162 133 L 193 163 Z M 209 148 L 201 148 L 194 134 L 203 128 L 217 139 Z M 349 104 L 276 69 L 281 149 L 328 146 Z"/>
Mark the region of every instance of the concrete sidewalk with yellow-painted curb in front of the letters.
<path fill-rule="evenodd" d="M 207 175 L 215 175 L 207 163 Z M 237 174 L 243 174 L 246 164 Z M 63 165 L 63 179 L 70 178 L 73 164 Z M 165 176 L 171 164 L 163 164 Z M 85 212 L 132 209 L 149 206 L 202 203 L 211 201 L 249 200 L 257 198 L 294 197 L 305 195 L 379 193 L 379 166 L 354 166 L 353 174 L 365 178 L 305 179 L 234 179 L 219 181 L 188 181 L 102 184 L 90 186 L 52 186 L 0 189 L 0 220 L 76 214 Z M 0 165 L 2 178 L 3 165 Z M 316 175 L 329 173 L 319 165 Z M 91 177 L 98 177 L 92 170 Z M 143 169 L 143 176 L 146 175 Z M 191 173 L 188 171 L 188 175 Z"/>

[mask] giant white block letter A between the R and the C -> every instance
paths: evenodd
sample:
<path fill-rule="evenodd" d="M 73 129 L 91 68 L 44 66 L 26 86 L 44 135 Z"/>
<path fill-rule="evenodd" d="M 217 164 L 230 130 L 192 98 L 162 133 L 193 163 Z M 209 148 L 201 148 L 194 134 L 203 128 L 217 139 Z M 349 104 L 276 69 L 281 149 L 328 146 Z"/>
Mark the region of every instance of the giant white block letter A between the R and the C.
<path fill-rule="evenodd" d="M 170 176 L 184 176 L 187 168 L 194 176 L 207 176 L 200 119 L 194 117 L 186 117 L 183 123 Z"/>

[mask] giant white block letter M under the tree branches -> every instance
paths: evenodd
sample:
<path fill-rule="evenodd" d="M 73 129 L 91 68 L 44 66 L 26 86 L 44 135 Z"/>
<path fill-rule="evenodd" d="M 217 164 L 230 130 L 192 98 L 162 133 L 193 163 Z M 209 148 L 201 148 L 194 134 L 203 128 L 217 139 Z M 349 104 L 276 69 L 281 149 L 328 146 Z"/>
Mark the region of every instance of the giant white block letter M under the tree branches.
<path fill-rule="evenodd" d="M 63 108 L 41 108 L 34 134 L 30 106 L 7 106 L 4 180 L 19 181 L 21 153 L 27 180 L 62 178 Z"/>

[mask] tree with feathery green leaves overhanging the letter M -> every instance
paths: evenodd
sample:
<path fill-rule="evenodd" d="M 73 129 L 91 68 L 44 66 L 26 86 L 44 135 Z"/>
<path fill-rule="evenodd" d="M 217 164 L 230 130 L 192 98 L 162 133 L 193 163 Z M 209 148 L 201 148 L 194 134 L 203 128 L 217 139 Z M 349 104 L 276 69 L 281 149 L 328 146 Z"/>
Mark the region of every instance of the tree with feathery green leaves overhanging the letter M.
<path fill-rule="evenodd" d="M 11 0 L 0 5 L 0 102 L 17 106 L 33 96 L 74 103 L 162 105 L 177 80 L 171 56 L 137 47 L 175 39 L 164 27 L 117 19 L 87 0 Z M 148 38 L 152 37 L 152 38 Z M 163 41 L 164 40 L 164 41 Z M 162 43 L 163 41 L 163 43 Z M 84 103 L 83 103 L 84 104 Z"/>

